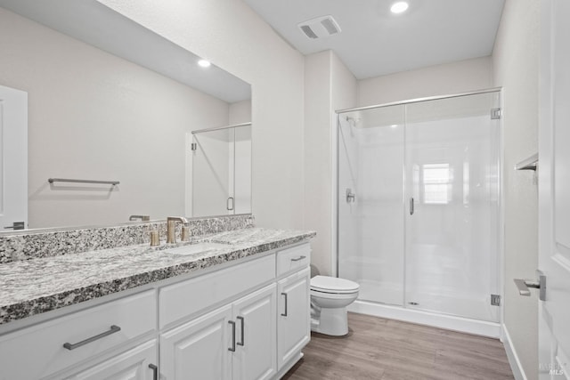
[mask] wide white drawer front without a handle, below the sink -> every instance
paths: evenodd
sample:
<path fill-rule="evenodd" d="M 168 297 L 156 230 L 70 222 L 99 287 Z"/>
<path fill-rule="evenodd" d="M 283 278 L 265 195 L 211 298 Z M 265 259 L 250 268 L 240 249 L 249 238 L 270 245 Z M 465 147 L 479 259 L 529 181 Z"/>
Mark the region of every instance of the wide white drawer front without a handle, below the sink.
<path fill-rule="evenodd" d="M 275 255 L 240 263 L 160 289 L 160 328 L 275 279 Z"/>

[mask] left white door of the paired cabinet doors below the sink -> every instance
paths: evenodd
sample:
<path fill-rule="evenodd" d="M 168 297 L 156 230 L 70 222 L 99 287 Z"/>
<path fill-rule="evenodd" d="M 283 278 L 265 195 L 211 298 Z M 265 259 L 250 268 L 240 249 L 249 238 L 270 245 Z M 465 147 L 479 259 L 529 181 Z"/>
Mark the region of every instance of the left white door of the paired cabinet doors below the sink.
<path fill-rule="evenodd" d="M 232 378 L 232 305 L 160 336 L 160 373 L 168 380 Z"/>

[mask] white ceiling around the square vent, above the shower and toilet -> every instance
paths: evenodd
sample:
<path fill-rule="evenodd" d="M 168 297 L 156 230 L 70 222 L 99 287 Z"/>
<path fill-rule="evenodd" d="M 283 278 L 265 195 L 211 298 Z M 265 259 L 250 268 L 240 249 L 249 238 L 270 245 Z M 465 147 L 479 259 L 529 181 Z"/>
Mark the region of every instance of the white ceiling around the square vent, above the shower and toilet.
<path fill-rule="evenodd" d="M 333 50 L 358 79 L 485 57 L 504 0 L 244 0 L 299 52 Z M 311 40 L 297 24 L 331 15 L 342 32 Z"/>

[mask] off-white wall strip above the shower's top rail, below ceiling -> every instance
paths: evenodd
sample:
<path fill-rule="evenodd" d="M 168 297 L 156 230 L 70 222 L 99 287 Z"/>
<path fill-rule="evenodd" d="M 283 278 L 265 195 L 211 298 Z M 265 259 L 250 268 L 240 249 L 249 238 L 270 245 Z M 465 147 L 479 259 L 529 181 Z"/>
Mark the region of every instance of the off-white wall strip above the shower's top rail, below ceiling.
<path fill-rule="evenodd" d="M 371 106 L 493 87 L 491 57 L 445 63 L 358 82 L 358 105 Z"/>

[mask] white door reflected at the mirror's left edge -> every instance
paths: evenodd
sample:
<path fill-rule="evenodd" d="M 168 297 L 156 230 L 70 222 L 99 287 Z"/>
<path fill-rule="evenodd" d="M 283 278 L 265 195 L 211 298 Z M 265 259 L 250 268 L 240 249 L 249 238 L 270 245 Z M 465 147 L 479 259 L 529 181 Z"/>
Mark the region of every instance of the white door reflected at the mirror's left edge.
<path fill-rule="evenodd" d="M 0 230 L 28 226 L 28 93 L 0 85 Z"/>

